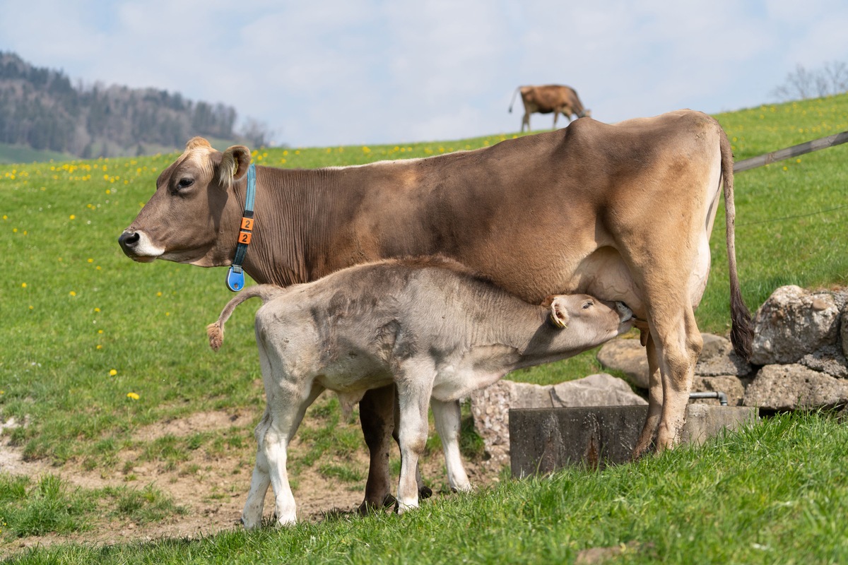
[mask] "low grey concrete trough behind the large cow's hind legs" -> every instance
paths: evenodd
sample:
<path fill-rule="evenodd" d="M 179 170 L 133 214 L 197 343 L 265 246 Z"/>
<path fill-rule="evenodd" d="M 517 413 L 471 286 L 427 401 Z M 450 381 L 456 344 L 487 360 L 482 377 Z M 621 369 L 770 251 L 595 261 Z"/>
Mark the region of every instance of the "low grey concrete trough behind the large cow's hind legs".
<path fill-rule="evenodd" d="M 627 463 L 647 414 L 646 406 L 511 409 L 512 475 Z M 753 407 L 689 404 L 683 442 L 700 444 L 721 429 L 737 429 L 756 418 Z"/>

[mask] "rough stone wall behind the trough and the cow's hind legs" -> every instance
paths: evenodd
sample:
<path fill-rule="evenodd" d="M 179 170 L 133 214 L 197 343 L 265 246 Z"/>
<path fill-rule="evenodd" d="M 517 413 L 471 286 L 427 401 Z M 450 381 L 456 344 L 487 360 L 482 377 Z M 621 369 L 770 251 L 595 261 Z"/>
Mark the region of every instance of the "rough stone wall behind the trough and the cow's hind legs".
<path fill-rule="evenodd" d="M 848 404 L 848 289 L 778 288 L 757 310 L 754 326 L 750 363 L 736 356 L 726 338 L 703 334 L 693 392 L 721 391 L 730 406 L 765 411 Z M 639 339 L 610 341 L 600 349 L 598 359 L 606 368 L 622 371 L 646 395 L 648 361 Z M 510 461 L 510 408 L 638 405 L 646 403 L 642 396 L 609 374 L 554 386 L 504 379 L 472 394 L 471 412 L 490 456 L 488 465 L 499 469 Z M 717 404 L 718 400 L 692 402 Z"/>

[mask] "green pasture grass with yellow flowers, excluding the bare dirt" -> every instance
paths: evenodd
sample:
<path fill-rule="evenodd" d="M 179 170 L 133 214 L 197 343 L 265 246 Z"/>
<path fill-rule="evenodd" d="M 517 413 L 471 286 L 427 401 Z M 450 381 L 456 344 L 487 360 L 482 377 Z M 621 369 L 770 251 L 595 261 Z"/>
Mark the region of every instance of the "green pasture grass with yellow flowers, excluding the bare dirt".
<path fill-rule="evenodd" d="M 749 158 L 848 130 L 848 95 L 750 108 L 717 118 L 728 131 L 736 158 Z M 483 147 L 511 136 L 404 146 L 269 148 L 254 152 L 254 160 L 293 168 L 369 163 Z M 736 176 L 739 278 L 752 310 L 779 285 L 815 288 L 848 284 L 846 157 L 848 146 L 834 147 Z M 25 457 L 57 466 L 81 463 L 86 468 L 108 469 L 120 464 L 121 451 L 132 449 L 148 453 L 147 457 L 160 463 L 173 457 L 177 462 L 174 464 L 179 464 L 180 451 L 227 447 L 216 444 L 213 435 L 201 435 L 192 439 L 192 446 L 177 442 L 165 449 L 142 445 L 132 439 L 133 432 L 148 424 L 200 411 L 237 408 L 255 413 L 258 418 L 263 409 L 261 387 L 254 383 L 259 378 L 250 330 L 254 309 L 243 307 L 235 313 L 229 324 L 232 330 L 227 335 L 226 352 L 215 355 L 207 345 L 205 324 L 217 317 L 220 307 L 230 298 L 224 286 L 225 269 L 198 269 L 165 262 L 132 263 L 117 245 L 120 232 L 153 194 L 157 175 L 174 158 L 176 155 L 171 154 L 0 164 L 0 250 L 4 267 L 0 281 L 4 319 L 0 326 L 0 423 L 10 418 L 26 423 L 3 431 L 3 440 L 21 446 Z M 723 225 L 723 209 L 719 208 L 711 242 L 711 278 L 697 312 L 701 329 L 719 334 L 729 330 Z M 582 377 L 599 368 L 593 355 L 584 354 L 567 362 L 516 372 L 510 378 L 547 384 Z M 681 450 L 616 470 L 614 473 L 621 474 L 621 478 L 609 483 L 600 479 L 611 476 L 606 472 L 599 475 L 570 471 L 552 480 L 510 482 L 481 496 L 446 501 L 444 507 L 425 507 L 415 516 L 400 520 L 384 517 L 328 521 L 283 534 L 237 533 L 192 543 L 163 542 L 126 549 L 139 551 L 134 554 L 136 557 L 126 558 L 143 561 L 140 556 L 146 551 L 150 556 L 187 551 L 196 562 L 201 562 L 202 556 L 211 556 L 213 561 L 236 562 L 238 558 L 250 562 L 255 549 L 268 551 L 262 554 L 266 556 L 295 552 L 304 560 L 313 553 L 319 560 L 332 559 L 339 557 L 338 551 L 344 551 L 353 556 L 351 562 L 364 562 L 369 551 L 375 551 L 382 560 L 399 562 L 396 551 L 400 550 L 395 548 L 414 551 L 416 541 L 433 548 L 429 557 L 432 562 L 454 561 L 458 555 L 496 561 L 504 551 L 516 556 L 516 561 L 525 561 L 519 558 L 519 551 L 531 551 L 526 561 L 546 561 L 545 557 L 569 558 L 583 547 L 639 540 L 653 544 L 651 551 L 656 555 L 677 561 L 675 556 L 688 551 L 718 551 L 718 540 L 728 538 L 731 545 L 716 555 L 734 557 L 731 561 L 737 562 L 797 562 L 806 560 L 808 552 L 814 551 L 811 544 L 819 540 L 819 535 L 841 531 L 840 543 L 845 543 L 840 512 L 836 510 L 844 507 L 845 492 L 830 491 L 828 473 L 832 471 L 820 475 L 814 466 L 790 466 L 795 469 L 793 478 L 801 484 L 787 488 L 809 490 L 811 500 L 800 494 L 791 500 L 789 494 L 785 498 L 769 494 L 767 488 L 771 487 L 765 481 L 770 479 L 767 475 L 772 468 L 756 467 L 762 457 L 752 454 L 760 450 L 765 456 L 785 449 L 783 432 L 773 431 L 772 425 L 796 430 L 801 436 L 812 434 L 809 430 L 819 433 L 823 429 L 828 435 L 823 440 L 845 433 L 841 424 L 815 416 L 790 420 L 790 424 L 765 423 L 758 439 L 748 440 L 749 444 L 728 448 L 736 445 L 736 440 L 728 440 L 729 443 L 713 447 L 717 451 L 737 450 L 734 462 L 729 457 L 714 460 L 709 452 L 691 454 Z M 244 429 L 232 441 L 249 445 L 253 441 L 250 432 Z M 812 441 L 793 437 L 791 441 L 795 443 Z M 356 440 L 350 440 L 354 448 Z M 361 441 L 359 449 L 364 449 Z M 836 452 L 844 456 L 845 451 Z M 786 457 L 795 456 L 789 451 Z M 804 452 L 801 457 L 813 455 Z M 822 457 L 835 456 L 831 453 Z M 700 463 L 701 459 L 706 463 Z M 689 473 L 689 467 L 699 469 L 698 474 Z M 722 474 L 726 479 L 721 478 Z M 739 480 L 740 474 L 750 474 L 753 484 L 745 486 Z M 672 480 L 668 489 L 659 485 L 664 476 Z M 46 489 L 61 500 L 63 490 L 62 485 L 45 486 L 43 480 L 35 478 L 21 483 L 0 477 L 2 547 L 2 540 L 12 540 L 20 532 L 41 531 L 21 529 L 14 523 L 19 518 L 11 518 L 11 511 L 4 509 L 20 501 L 14 493 L 35 500 L 31 493 Z M 715 488 L 722 482 L 732 494 L 721 507 L 711 507 L 706 501 L 678 501 L 664 506 L 675 496 L 704 490 L 709 485 Z M 247 489 L 247 485 L 237 486 Z M 663 504 L 652 502 L 639 492 L 641 506 L 629 507 L 630 497 L 643 487 Z M 593 493 L 591 499 L 581 494 L 585 492 Z M 832 495 L 835 498 L 828 499 Z M 83 516 L 85 512 L 116 512 L 114 500 L 110 501 L 114 498 L 103 492 L 89 493 L 81 502 L 65 506 L 78 508 Z M 140 496 L 140 507 L 153 512 L 168 504 L 173 508 L 179 505 L 179 501 L 160 503 L 149 501 L 151 498 L 156 497 Z M 4 500 L 11 502 L 3 506 Z M 589 500 L 593 503 L 589 504 Z M 781 506 L 788 502 L 789 506 Z M 62 505 L 59 503 L 59 507 Z M 790 515 L 794 520 L 790 524 L 802 532 L 789 536 L 781 535 L 789 531 L 783 526 L 764 529 L 758 521 L 761 518 L 743 518 L 750 513 L 780 519 Z M 736 514 L 739 517 L 734 517 Z M 491 528 L 486 526 L 489 519 Z M 711 519 L 716 531 L 710 534 Z M 750 521 L 732 522 L 745 519 Z M 473 540 L 460 540 L 460 534 L 469 531 L 471 524 Z M 732 535 L 716 533 L 724 531 L 724 526 L 734 529 Z M 47 530 L 59 531 L 58 526 L 51 528 Z M 736 532 L 739 528 L 752 529 L 750 540 L 762 532 L 764 537 L 756 544 L 771 547 L 773 552 L 761 554 L 752 550 L 750 544 L 754 542 L 741 539 Z M 432 535 L 427 533 L 431 529 Z M 704 536 L 706 540 L 701 539 Z M 511 546 L 498 549 L 498 540 L 506 540 Z M 824 551 L 819 555 L 825 557 L 845 557 L 844 546 L 825 544 L 823 548 L 815 551 Z M 828 548 L 840 552 L 829 554 Z M 60 551 L 66 552 L 50 555 L 61 562 L 90 562 L 86 560 L 91 559 L 92 551 L 98 552 L 81 546 Z M 120 551 L 125 550 L 116 551 L 104 551 L 103 557 L 114 555 L 109 558 L 121 562 Z M 420 553 L 419 550 L 416 555 Z M 150 557 L 149 561 L 169 559 L 173 557 Z M 633 559 L 639 562 L 641 557 Z"/>

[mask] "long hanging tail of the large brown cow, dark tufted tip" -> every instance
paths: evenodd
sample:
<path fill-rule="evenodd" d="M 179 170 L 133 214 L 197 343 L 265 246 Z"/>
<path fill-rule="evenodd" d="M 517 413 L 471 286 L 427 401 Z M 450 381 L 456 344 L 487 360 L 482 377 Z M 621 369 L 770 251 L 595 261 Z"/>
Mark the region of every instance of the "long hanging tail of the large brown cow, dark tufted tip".
<path fill-rule="evenodd" d="M 734 155 L 727 133 L 719 129 L 722 152 L 722 185 L 724 185 L 724 215 L 727 222 L 728 271 L 730 272 L 730 341 L 739 357 L 750 359 L 754 330 L 750 311 L 742 300 L 739 275 L 736 270 L 736 207 L 734 206 Z"/>

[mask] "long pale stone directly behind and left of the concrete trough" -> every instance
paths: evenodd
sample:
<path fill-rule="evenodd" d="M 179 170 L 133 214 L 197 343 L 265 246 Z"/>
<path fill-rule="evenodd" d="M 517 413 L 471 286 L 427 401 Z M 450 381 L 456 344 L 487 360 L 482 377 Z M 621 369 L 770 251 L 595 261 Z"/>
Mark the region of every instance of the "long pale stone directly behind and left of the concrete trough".
<path fill-rule="evenodd" d="M 495 469 L 510 463 L 510 408 L 551 408 L 647 404 L 622 379 L 593 374 L 559 385 L 530 385 L 501 379 L 471 394 L 474 428 Z"/>

